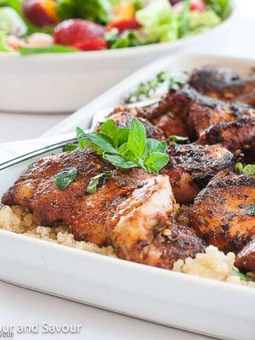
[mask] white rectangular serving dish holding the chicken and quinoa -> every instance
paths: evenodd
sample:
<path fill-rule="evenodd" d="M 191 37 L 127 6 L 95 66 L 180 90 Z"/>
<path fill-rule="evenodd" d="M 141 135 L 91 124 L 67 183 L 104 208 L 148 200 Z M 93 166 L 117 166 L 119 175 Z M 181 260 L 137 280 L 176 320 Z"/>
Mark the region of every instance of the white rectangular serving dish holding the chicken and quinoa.
<path fill-rule="evenodd" d="M 203 64 L 245 72 L 255 62 L 196 55 L 164 58 L 125 79 L 51 133 L 85 126 L 83 118 L 89 122 L 99 109 L 115 106 L 135 84 L 159 71 L 188 70 Z M 0 171 L 0 196 L 30 162 L 33 159 Z M 1 280 L 221 339 L 254 339 L 253 288 L 91 254 L 4 230 L 0 230 L 0 249 Z"/>

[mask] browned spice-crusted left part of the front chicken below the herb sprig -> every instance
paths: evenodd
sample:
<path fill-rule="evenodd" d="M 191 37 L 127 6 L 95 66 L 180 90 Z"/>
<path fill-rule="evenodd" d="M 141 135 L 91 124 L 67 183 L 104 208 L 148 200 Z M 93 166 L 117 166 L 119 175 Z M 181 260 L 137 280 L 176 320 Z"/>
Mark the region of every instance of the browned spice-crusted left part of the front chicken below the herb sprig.
<path fill-rule="evenodd" d="M 60 190 L 54 177 L 69 166 L 77 166 L 77 179 Z M 111 179 L 98 186 L 96 196 L 86 195 L 91 177 L 101 173 L 111 175 Z M 77 149 L 32 164 L 3 196 L 2 202 L 29 208 L 37 225 L 70 225 L 76 239 L 102 245 L 107 243 L 104 223 L 108 215 L 149 176 L 136 169 L 127 173 L 116 171 L 89 149 Z"/>

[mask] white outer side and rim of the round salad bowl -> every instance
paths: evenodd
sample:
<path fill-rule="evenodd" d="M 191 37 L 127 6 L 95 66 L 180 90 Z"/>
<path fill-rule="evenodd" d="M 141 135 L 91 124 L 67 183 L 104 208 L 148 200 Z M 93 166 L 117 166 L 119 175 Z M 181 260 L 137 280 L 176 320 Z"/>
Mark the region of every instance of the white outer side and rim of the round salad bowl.
<path fill-rule="evenodd" d="M 0 52 L 0 110 L 68 113 L 77 110 L 156 57 L 219 35 L 234 21 L 237 8 L 220 25 L 188 38 L 98 52 L 21 56 Z"/>

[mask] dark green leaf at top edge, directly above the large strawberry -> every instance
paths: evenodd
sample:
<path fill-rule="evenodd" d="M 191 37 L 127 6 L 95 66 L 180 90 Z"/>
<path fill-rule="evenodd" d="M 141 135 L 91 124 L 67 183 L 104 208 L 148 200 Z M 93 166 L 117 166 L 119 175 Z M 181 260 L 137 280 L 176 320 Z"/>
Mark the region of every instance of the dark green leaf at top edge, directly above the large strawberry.
<path fill-rule="evenodd" d="M 106 24 L 110 20 L 109 0 L 57 0 L 57 15 L 61 20 L 83 18 Z"/>

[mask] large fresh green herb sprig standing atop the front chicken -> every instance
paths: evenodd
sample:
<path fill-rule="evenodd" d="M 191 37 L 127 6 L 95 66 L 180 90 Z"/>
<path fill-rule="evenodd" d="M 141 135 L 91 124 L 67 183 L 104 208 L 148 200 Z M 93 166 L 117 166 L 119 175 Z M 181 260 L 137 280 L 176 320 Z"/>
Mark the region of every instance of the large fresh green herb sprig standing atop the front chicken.
<path fill-rule="evenodd" d="M 140 168 L 158 174 L 169 162 L 166 142 L 146 137 L 145 126 L 132 119 L 130 128 L 118 128 L 114 120 L 106 120 L 99 132 L 77 129 L 81 148 L 89 147 L 119 169 Z"/>

